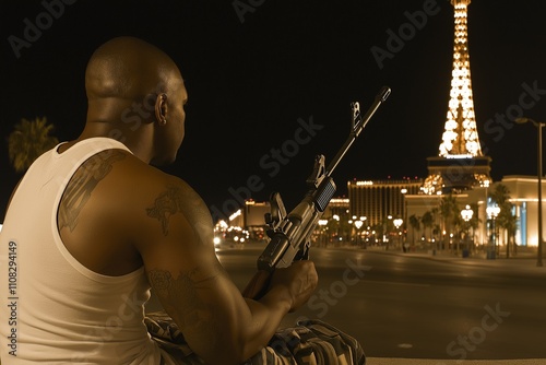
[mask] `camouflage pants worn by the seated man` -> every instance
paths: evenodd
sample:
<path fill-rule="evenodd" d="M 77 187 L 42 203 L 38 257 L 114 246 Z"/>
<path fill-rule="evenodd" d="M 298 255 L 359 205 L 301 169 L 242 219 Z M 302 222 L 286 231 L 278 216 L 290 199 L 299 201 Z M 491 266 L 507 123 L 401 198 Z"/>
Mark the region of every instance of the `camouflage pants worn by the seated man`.
<path fill-rule="evenodd" d="M 163 311 L 150 313 L 144 319 L 152 338 L 175 364 L 197 365 L 204 362 L 183 340 L 177 325 Z M 162 364 L 168 364 L 165 361 Z M 360 344 L 352 337 L 320 320 L 298 322 L 278 330 L 268 346 L 244 365 L 364 365 Z"/>

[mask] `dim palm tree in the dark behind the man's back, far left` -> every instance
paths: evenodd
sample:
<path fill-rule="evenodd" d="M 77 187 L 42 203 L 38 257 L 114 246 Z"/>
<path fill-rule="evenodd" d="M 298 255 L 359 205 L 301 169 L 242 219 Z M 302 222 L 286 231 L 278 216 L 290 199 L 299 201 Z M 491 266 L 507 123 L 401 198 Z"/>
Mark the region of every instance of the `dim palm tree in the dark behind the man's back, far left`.
<path fill-rule="evenodd" d="M 17 173 L 24 173 L 40 154 L 59 143 L 56 137 L 49 136 L 54 125 L 47 118 L 34 120 L 21 119 L 8 138 L 10 162 Z"/>

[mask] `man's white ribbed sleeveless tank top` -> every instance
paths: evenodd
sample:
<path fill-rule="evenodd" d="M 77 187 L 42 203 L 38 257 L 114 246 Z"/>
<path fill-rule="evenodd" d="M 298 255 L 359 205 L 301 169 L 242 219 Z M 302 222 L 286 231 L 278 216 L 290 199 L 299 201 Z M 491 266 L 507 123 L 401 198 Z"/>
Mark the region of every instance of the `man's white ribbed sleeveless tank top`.
<path fill-rule="evenodd" d="M 143 322 L 150 286 L 141 268 L 98 274 L 67 250 L 57 210 L 68 181 L 90 156 L 123 144 L 108 138 L 43 154 L 22 179 L 0 232 L 1 364 L 157 365 Z"/>

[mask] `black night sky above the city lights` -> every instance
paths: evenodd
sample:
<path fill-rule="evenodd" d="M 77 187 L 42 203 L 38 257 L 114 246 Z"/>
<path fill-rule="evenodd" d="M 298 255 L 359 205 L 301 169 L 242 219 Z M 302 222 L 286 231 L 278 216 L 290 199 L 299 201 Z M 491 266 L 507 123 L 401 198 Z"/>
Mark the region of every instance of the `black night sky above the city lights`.
<path fill-rule="evenodd" d="M 367 110 L 383 85 L 391 96 L 334 172 L 339 195 L 353 178 L 425 178 L 426 158 L 438 155 L 453 50 L 447 0 L 66 2 L 0 2 L 0 216 L 21 177 L 8 158 L 13 126 L 47 117 L 59 140 L 76 138 L 86 62 L 120 35 L 149 40 L 179 64 L 186 139 L 162 169 L 211 209 L 224 211 L 234 191 L 247 190 L 258 201 L 280 191 L 292 209 L 314 156 L 328 164 L 347 138 L 351 103 Z M 494 180 L 536 176 L 536 129 L 512 120 L 524 113 L 546 121 L 545 16 L 544 0 L 468 7 L 476 120 Z"/>

